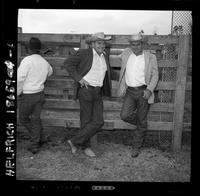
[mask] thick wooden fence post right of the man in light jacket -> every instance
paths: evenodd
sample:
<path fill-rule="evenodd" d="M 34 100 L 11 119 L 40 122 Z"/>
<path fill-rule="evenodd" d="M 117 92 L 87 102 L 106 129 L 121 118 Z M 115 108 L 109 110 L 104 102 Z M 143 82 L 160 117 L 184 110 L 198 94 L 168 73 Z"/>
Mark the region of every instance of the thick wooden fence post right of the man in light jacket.
<path fill-rule="evenodd" d="M 178 67 L 176 75 L 176 88 L 174 100 L 174 119 L 173 119 L 173 151 L 181 149 L 183 115 L 185 104 L 185 87 L 187 77 L 187 65 L 189 57 L 189 36 L 180 36 L 178 42 Z"/>

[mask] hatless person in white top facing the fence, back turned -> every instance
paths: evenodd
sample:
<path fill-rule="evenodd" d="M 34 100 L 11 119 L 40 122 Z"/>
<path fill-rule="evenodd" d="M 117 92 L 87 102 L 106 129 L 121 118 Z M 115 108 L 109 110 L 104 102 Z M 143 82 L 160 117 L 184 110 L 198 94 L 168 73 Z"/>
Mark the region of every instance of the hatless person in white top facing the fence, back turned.
<path fill-rule="evenodd" d="M 41 42 L 32 37 L 29 40 L 30 55 L 26 56 L 17 69 L 17 96 L 19 121 L 30 134 L 28 150 L 37 153 L 45 142 L 40 114 L 44 104 L 44 83 L 53 73 L 50 64 L 40 55 Z"/>

